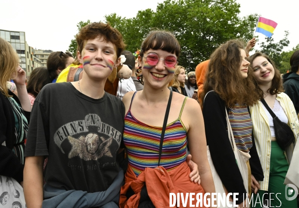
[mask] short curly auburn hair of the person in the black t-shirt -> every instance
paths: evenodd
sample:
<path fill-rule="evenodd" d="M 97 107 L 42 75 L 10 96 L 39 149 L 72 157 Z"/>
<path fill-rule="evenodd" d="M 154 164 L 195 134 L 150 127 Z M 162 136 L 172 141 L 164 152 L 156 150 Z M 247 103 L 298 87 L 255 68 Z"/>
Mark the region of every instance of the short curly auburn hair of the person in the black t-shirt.
<path fill-rule="evenodd" d="M 76 34 L 76 41 L 78 44 L 77 51 L 82 54 L 86 41 L 95 39 L 99 36 L 104 38 L 107 42 L 112 42 L 116 46 L 117 57 L 121 56 L 121 53 L 126 47 L 122 34 L 109 23 L 105 24 L 103 22 L 93 22 L 81 28 L 81 30 Z M 80 64 L 77 56 L 73 64 Z"/>

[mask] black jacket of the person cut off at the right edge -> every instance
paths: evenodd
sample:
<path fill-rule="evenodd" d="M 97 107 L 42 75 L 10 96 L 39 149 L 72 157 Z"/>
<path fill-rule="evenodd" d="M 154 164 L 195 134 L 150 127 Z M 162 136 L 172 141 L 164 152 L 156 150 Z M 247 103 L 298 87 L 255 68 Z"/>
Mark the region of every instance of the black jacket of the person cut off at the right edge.
<path fill-rule="evenodd" d="M 299 113 L 299 75 L 289 72 L 283 75 L 285 93 L 291 98 L 296 113 Z"/>

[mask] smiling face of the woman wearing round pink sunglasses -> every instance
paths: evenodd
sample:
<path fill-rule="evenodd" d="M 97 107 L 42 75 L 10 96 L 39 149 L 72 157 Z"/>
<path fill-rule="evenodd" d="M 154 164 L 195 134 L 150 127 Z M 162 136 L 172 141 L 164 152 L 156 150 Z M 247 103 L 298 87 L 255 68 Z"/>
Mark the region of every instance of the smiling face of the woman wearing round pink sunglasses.
<path fill-rule="evenodd" d="M 165 66 L 163 60 L 159 60 L 155 66 L 149 65 L 147 59 L 145 58 L 149 53 L 157 54 L 159 59 L 165 59 L 165 57 L 167 57 L 168 55 L 173 55 L 174 57 L 176 57 L 176 55 L 174 53 L 170 53 L 161 49 L 149 49 L 144 53 L 144 57 L 138 57 L 139 65 L 142 66 L 142 74 L 144 76 L 144 79 L 146 80 L 145 85 L 149 84 L 153 88 L 164 87 L 173 78 L 175 67 Z"/>

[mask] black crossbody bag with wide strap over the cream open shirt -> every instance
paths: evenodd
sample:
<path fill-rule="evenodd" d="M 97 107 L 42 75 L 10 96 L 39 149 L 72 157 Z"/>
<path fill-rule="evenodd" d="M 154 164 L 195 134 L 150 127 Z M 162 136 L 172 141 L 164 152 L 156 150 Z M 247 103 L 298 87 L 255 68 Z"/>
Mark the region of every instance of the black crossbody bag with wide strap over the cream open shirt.
<path fill-rule="evenodd" d="M 266 107 L 266 109 L 269 111 L 270 115 L 273 118 L 274 131 L 275 131 L 275 137 L 276 137 L 277 144 L 283 150 L 285 150 L 295 140 L 294 133 L 288 124 L 282 122 L 275 115 L 275 113 L 271 110 L 271 108 L 268 106 L 268 104 L 266 103 L 266 101 L 264 99 L 262 99 L 261 102 L 263 103 L 263 105 Z"/>

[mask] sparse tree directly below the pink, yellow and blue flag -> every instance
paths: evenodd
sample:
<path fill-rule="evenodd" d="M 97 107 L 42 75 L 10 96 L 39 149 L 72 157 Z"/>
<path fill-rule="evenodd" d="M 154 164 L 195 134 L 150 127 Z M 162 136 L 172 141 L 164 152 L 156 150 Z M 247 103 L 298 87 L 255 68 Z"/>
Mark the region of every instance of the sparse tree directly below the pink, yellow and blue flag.
<path fill-rule="evenodd" d="M 285 31 L 285 37 L 279 42 L 275 43 L 272 37 L 266 37 L 266 42 L 261 43 L 261 52 L 267 54 L 279 69 L 282 67 L 283 49 L 290 44 L 288 36 L 289 31 Z M 283 73 L 283 71 L 281 71 L 281 73 Z"/>

